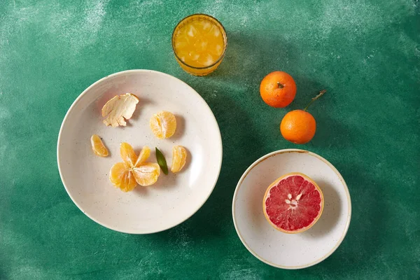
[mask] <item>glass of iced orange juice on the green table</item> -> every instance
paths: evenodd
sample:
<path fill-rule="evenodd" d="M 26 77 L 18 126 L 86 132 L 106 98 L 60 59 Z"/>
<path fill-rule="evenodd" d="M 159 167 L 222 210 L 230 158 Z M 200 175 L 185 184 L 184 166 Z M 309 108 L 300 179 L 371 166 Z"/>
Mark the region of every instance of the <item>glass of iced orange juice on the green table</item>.
<path fill-rule="evenodd" d="M 210 15 L 188 15 L 176 25 L 172 34 L 172 49 L 182 69 L 205 76 L 221 64 L 228 45 L 221 22 Z"/>

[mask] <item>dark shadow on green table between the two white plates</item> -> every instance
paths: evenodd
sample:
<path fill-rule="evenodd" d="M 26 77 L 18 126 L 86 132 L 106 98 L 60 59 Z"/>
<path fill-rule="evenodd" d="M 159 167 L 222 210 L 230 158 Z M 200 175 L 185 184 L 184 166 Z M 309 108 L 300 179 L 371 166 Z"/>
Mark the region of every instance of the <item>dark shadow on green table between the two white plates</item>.
<path fill-rule="evenodd" d="M 228 94 L 220 94 L 214 114 L 223 140 L 221 174 L 209 200 L 188 221 L 193 235 L 200 238 L 223 235 L 233 228 L 232 197 L 239 178 L 262 154 L 260 135 L 255 132 L 246 111 Z"/>

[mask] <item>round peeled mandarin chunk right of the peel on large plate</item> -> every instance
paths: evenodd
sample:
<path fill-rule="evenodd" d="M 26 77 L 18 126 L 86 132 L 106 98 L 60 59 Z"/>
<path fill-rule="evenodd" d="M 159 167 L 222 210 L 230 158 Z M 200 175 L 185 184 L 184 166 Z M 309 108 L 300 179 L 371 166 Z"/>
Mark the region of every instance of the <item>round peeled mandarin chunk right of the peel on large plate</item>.
<path fill-rule="evenodd" d="M 152 116 L 151 130 L 158 139 L 172 137 L 176 130 L 176 118 L 173 113 L 162 111 Z"/>

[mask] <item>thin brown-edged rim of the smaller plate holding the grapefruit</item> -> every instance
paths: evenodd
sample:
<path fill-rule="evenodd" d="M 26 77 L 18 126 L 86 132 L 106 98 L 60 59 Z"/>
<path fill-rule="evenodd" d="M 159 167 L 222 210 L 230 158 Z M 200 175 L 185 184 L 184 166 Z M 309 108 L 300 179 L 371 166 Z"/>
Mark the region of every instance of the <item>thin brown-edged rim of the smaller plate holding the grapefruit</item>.
<path fill-rule="evenodd" d="M 335 244 L 334 248 L 332 248 L 330 251 L 328 251 L 328 253 L 323 255 L 323 257 L 319 258 L 318 260 L 314 260 L 313 262 L 309 262 L 306 265 L 284 266 L 284 265 L 277 265 L 273 262 L 269 262 L 268 260 L 265 260 L 265 258 L 262 258 L 260 255 L 255 253 L 255 251 L 253 251 L 250 246 L 248 246 L 245 239 L 241 236 L 241 233 L 239 232 L 239 229 L 238 229 L 238 226 L 237 226 L 237 221 L 236 221 L 236 216 L 235 216 L 235 204 L 236 204 L 237 193 L 238 193 L 239 188 L 240 188 L 241 184 L 243 183 L 244 179 L 246 178 L 246 176 L 248 176 L 249 172 L 251 172 L 251 170 L 255 166 L 257 166 L 260 162 L 263 162 L 264 160 L 267 160 L 268 158 L 272 158 L 273 156 L 279 155 L 279 154 L 282 154 L 282 153 L 307 153 L 307 154 L 309 154 L 311 156 L 314 156 L 315 158 L 318 158 L 319 160 L 322 160 L 323 162 L 325 162 L 332 169 L 332 171 L 335 172 L 335 174 L 337 174 L 340 181 L 342 181 L 342 184 L 344 186 L 344 190 L 346 192 L 347 202 L 349 204 L 349 209 L 348 209 L 349 213 L 347 214 L 346 227 L 344 229 L 344 232 L 342 233 L 342 237 L 340 237 L 340 239 L 337 241 L 337 244 Z M 258 258 L 258 260 L 261 260 L 262 262 L 265 262 L 267 265 L 271 265 L 272 267 L 278 267 L 278 268 L 282 268 L 282 269 L 302 269 L 302 268 L 306 268 L 306 267 L 311 267 L 313 265 L 318 264 L 319 262 L 322 262 L 323 260 L 328 258 L 330 255 L 332 255 L 332 253 L 334 253 L 335 250 L 337 250 L 339 245 L 342 244 L 342 241 L 344 240 L 344 237 L 346 237 L 347 231 L 349 230 L 350 221 L 351 221 L 351 197 L 350 197 L 349 188 L 347 187 L 346 181 L 344 181 L 342 175 L 338 172 L 338 170 L 334 167 L 334 165 L 332 165 L 328 160 L 325 160 L 325 158 L 321 157 L 321 155 L 317 155 L 316 153 L 312 153 L 311 151 L 301 150 L 301 149 L 297 149 L 297 148 L 282 149 L 282 150 L 274 151 L 272 153 L 267 153 L 267 155 L 263 155 L 261 158 L 258 158 L 258 160 L 255 160 L 255 162 L 253 162 L 252 165 L 250 165 L 246 169 L 244 174 L 242 174 L 241 179 L 239 179 L 239 181 L 237 183 L 237 186 L 235 188 L 235 193 L 233 194 L 232 218 L 233 218 L 233 224 L 235 225 L 235 230 L 237 232 L 237 235 L 238 235 L 239 239 L 241 240 L 242 244 L 244 244 L 245 248 L 251 254 L 253 254 L 255 256 L 255 258 Z"/>

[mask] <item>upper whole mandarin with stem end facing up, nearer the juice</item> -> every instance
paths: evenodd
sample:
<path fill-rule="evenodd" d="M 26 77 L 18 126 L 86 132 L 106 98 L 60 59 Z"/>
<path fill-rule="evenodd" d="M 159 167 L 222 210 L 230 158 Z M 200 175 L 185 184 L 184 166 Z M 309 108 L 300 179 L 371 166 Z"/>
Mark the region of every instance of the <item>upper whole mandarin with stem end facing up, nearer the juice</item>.
<path fill-rule="evenodd" d="M 260 94 L 262 100 L 269 106 L 286 107 L 295 99 L 295 80 L 286 72 L 274 71 L 262 79 Z"/>

